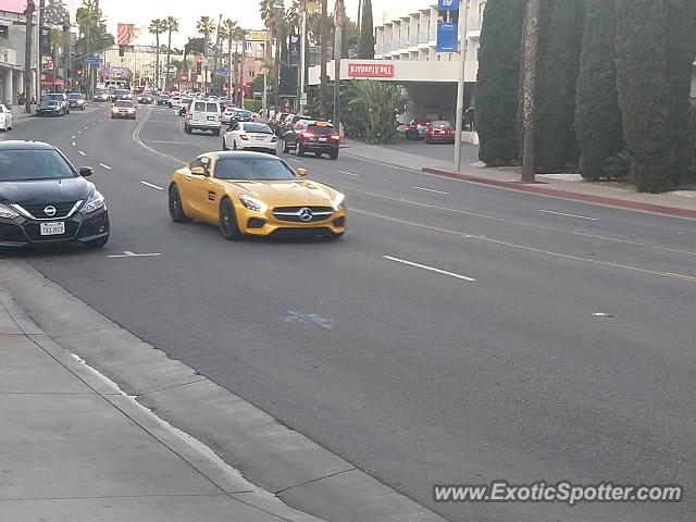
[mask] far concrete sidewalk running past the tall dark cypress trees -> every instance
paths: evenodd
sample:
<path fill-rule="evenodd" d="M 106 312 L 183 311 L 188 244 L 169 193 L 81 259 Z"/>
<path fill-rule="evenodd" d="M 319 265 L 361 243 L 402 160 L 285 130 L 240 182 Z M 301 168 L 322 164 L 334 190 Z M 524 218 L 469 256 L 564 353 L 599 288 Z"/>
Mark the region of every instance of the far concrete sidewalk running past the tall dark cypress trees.
<path fill-rule="evenodd" d="M 537 175 L 537 183 L 527 185 L 520 183 L 519 170 L 512 167 L 482 169 L 462 164 L 461 172 L 453 172 L 452 163 L 449 161 L 424 158 L 353 140 L 344 142 L 347 146 L 341 151 L 345 156 L 365 161 L 543 196 L 696 219 L 696 192 L 642 194 L 631 188 L 599 183 L 559 179 L 557 177 L 568 176 L 554 175 Z"/>

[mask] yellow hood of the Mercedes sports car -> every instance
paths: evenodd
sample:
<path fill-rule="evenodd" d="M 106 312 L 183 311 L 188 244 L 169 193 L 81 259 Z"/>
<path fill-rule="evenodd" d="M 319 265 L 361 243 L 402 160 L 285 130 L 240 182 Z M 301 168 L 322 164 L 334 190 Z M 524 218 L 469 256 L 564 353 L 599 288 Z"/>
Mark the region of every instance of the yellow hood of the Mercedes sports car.
<path fill-rule="evenodd" d="M 237 194 L 247 194 L 269 207 L 318 206 L 331 207 L 336 190 L 310 181 L 229 182 Z"/>

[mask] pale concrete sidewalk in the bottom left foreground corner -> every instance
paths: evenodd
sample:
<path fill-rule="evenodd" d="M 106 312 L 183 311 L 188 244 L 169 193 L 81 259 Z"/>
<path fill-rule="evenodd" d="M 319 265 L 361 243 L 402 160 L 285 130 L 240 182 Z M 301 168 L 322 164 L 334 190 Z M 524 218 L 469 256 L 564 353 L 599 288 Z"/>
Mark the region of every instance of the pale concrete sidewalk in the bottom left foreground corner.
<path fill-rule="evenodd" d="M 321 522 L 55 345 L 0 287 L 0 519 Z"/>

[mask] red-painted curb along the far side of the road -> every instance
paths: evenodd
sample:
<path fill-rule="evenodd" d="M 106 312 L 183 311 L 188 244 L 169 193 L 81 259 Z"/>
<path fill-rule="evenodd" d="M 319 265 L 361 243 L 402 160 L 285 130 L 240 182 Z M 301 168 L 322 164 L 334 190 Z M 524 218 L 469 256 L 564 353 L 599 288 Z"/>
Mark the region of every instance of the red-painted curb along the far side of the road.
<path fill-rule="evenodd" d="M 696 210 L 680 209 L 678 207 L 664 207 L 662 204 L 643 203 L 641 201 L 630 201 L 626 199 L 608 198 L 606 196 L 594 196 L 589 194 L 571 192 L 569 190 L 555 190 L 552 188 L 544 188 L 537 185 L 526 185 L 519 182 L 500 182 L 498 179 L 487 179 L 485 177 L 461 174 L 459 172 L 444 171 L 440 169 L 422 167 L 423 172 L 436 174 L 444 177 L 452 177 L 455 179 L 463 179 L 465 182 L 480 183 L 482 185 L 492 185 L 494 187 L 511 188 L 523 192 L 539 194 L 543 196 L 555 196 L 562 199 L 572 199 L 575 201 L 585 201 L 589 203 L 601 203 L 611 207 L 621 207 L 623 209 L 643 210 L 646 212 L 655 212 L 658 214 L 678 215 L 680 217 L 696 219 Z"/>

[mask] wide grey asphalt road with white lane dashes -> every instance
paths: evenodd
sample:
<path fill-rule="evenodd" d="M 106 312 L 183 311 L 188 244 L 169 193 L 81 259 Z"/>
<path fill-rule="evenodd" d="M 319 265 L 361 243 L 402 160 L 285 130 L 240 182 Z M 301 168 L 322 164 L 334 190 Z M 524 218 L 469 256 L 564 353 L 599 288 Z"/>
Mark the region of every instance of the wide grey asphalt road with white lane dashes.
<path fill-rule="evenodd" d="M 164 190 L 221 138 L 185 135 L 164 109 L 105 116 L 3 138 L 95 167 L 109 245 L 4 256 L 449 520 L 696 519 L 694 221 L 288 156 L 346 192 L 347 234 L 231 244 L 172 223 Z M 124 251 L 158 256 L 110 257 Z M 681 484 L 686 498 L 432 497 L 496 478 Z"/>

